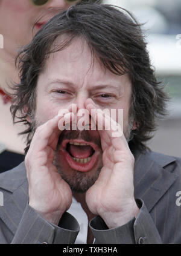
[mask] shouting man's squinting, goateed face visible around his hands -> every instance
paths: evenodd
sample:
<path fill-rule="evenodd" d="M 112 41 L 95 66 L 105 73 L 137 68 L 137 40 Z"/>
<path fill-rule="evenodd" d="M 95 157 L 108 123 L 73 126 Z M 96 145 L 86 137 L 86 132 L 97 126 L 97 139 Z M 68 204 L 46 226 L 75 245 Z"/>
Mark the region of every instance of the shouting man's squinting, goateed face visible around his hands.
<path fill-rule="evenodd" d="M 77 111 L 84 109 L 87 99 L 98 108 L 123 109 L 125 137 L 129 137 L 131 83 L 127 74 L 118 76 L 100 64 L 86 42 L 75 39 L 68 48 L 51 54 L 37 81 L 36 126 L 56 116 L 71 103 Z M 103 166 L 101 131 L 65 130 L 60 134 L 54 164 L 74 191 L 86 191 L 97 180 Z M 76 143 L 88 145 L 75 145 Z M 83 159 L 83 160 L 79 160 Z"/>

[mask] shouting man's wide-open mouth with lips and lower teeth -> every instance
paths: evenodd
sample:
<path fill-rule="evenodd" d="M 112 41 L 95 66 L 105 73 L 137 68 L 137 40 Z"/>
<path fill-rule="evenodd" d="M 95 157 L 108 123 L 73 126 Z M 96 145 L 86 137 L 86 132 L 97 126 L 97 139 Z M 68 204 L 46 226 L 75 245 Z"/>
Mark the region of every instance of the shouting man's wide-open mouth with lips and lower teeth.
<path fill-rule="evenodd" d="M 100 154 L 94 143 L 77 140 L 64 140 L 60 151 L 72 169 L 83 172 L 94 167 Z"/>

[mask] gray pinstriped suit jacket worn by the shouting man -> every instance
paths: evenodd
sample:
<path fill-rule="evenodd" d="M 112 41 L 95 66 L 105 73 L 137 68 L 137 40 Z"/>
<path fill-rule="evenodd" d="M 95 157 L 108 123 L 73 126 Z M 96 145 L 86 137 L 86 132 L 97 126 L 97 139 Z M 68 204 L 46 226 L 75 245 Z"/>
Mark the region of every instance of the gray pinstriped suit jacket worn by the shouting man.
<path fill-rule="evenodd" d="M 89 225 L 96 243 L 181 243 L 181 203 L 176 203 L 181 191 L 181 159 L 151 151 L 134 155 L 139 215 L 114 229 L 107 229 L 103 219 L 95 217 Z M 28 205 L 24 163 L 0 175 L 0 191 L 4 196 L 0 243 L 74 243 L 79 226 L 71 214 L 65 212 L 55 226 Z"/>

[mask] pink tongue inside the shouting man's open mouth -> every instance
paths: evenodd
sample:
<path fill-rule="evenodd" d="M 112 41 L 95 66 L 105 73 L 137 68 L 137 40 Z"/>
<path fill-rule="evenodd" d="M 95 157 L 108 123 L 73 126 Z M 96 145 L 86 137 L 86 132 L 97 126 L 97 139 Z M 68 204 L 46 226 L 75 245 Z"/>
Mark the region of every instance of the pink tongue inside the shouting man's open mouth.
<path fill-rule="evenodd" d="M 70 144 L 68 146 L 69 154 L 76 158 L 87 158 L 92 154 L 92 150 L 92 146 L 76 146 Z"/>

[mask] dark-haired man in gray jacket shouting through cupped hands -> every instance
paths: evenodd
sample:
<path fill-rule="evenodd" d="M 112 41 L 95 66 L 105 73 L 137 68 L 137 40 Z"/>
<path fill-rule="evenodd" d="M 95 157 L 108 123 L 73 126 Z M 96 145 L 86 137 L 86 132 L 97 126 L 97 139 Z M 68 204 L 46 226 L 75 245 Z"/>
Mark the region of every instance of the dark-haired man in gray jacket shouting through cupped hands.
<path fill-rule="evenodd" d="M 27 148 L 25 162 L 1 175 L 1 241 L 180 241 L 180 160 L 144 144 L 167 96 L 133 16 L 71 7 L 36 34 L 19 65 L 11 112 L 25 123 Z"/>

